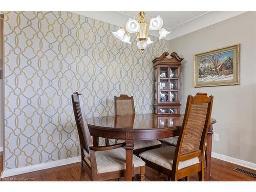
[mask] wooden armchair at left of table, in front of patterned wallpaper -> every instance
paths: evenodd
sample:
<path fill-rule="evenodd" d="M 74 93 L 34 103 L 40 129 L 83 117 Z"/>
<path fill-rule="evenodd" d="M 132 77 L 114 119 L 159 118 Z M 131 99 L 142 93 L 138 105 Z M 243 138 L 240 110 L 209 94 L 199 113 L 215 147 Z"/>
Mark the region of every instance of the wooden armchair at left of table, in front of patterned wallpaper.
<path fill-rule="evenodd" d="M 82 170 L 92 181 L 103 181 L 123 177 L 125 174 L 125 143 L 110 146 L 93 146 L 86 122 L 81 94 L 72 95 L 73 110 L 81 147 Z M 84 166 L 83 166 L 84 164 Z M 133 156 L 133 174 L 145 180 L 145 162 Z"/>

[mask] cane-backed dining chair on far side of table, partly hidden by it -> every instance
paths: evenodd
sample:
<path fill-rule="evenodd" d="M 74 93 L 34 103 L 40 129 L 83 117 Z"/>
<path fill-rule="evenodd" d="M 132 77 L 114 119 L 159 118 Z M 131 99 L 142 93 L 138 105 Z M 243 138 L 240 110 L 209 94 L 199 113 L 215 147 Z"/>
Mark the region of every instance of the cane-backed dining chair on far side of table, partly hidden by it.
<path fill-rule="evenodd" d="M 120 95 L 114 97 L 115 102 L 115 115 L 135 115 L 133 96 Z M 116 143 L 125 142 L 124 140 L 116 140 Z M 109 144 L 109 143 L 106 143 Z M 144 151 L 151 150 L 153 148 L 162 147 L 161 141 L 158 140 L 146 140 L 146 141 L 134 141 L 133 154 L 138 155 Z"/>

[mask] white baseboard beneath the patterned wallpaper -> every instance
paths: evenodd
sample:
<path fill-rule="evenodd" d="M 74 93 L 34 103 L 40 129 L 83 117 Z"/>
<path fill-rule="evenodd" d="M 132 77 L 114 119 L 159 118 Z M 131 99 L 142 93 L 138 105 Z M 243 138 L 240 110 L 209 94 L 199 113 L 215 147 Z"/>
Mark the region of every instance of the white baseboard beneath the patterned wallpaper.
<path fill-rule="evenodd" d="M 35 172 L 36 170 L 42 170 L 42 169 L 67 165 L 67 164 L 71 164 L 71 163 L 77 163 L 80 161 L 81 161 L 81 156 L 78 156 L 78 157 L 61 159 L 61 160 L 57 160 L 57 161 L 40 163 L 40 164 L 25 166 L 25 167 L 20 167 L 20 168 L 6 169 L 6 170 L 4 170 L 4 172 L 2 172 L 2 175 L 0 178 L 10 177 L 10 176 L 19 175 L 19 174 L 25 174 L 25 173 L 29 173 L 29 172 Z"/>

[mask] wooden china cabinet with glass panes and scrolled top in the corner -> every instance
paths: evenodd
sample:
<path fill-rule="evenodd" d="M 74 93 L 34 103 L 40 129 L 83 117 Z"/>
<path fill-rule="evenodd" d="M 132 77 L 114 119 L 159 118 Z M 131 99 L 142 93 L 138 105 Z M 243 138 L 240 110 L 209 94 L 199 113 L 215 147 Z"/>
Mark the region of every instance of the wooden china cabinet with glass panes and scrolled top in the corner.
<path fill-rule="evenodd" d="M 168 52 L 153 60 L 154 63 L 154 113 L 180 114 L 180 67 L 183 58 Z"/>

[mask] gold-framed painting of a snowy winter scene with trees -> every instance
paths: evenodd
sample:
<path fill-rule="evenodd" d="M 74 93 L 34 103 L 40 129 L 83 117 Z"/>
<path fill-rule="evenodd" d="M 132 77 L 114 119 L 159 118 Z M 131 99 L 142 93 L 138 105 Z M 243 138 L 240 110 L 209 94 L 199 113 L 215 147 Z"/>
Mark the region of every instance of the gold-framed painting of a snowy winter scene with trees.
<path fill-rule="evenodd" d="M 239 84 L 240 45 L 194 55 L 194 87 Z"/>

